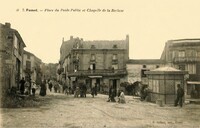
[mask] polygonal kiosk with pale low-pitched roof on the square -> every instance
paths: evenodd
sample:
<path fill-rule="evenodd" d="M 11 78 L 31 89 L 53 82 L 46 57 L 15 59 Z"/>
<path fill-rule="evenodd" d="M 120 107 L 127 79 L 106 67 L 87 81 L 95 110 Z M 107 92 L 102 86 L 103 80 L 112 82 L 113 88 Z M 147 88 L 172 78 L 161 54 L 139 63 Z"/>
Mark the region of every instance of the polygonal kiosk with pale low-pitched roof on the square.
<path fill-rule="evenodd" d="M 184 75 L 187 71 L 181 71 L 172 67 L 161 67 L 146 71 L 148 77 L 150 102 L 162 102 L 161 104 L 174 104 L 176 99 L 177 84 L 185 88 Z"/>

